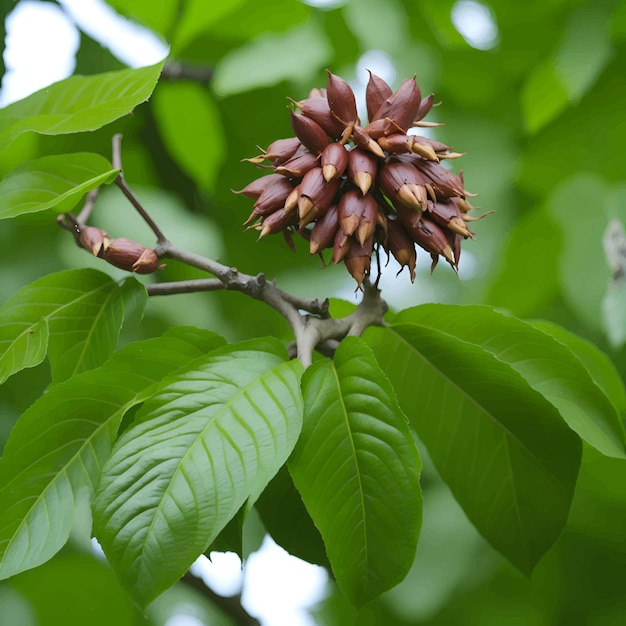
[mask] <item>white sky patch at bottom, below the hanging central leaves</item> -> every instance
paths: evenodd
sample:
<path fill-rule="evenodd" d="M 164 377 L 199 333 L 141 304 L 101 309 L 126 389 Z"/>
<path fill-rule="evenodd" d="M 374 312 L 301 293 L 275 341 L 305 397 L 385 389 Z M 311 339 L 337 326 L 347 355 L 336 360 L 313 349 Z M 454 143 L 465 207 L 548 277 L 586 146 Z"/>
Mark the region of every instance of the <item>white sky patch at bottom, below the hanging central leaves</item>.
<path fill-rule="evenodd" d="M 307 609 L 327 593 L 328 573 L 291 556 L 269 536 L 244 570 L 243 607 L 263 626 L 315 626 Z"/>

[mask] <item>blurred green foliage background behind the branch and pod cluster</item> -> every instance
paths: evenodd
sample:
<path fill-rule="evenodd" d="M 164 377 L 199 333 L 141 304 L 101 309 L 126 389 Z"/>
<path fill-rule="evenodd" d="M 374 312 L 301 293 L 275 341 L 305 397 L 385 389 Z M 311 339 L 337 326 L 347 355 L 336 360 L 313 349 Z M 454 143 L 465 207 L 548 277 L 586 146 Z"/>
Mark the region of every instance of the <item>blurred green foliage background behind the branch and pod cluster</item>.
<path fill-rule="evenodd" d="M 15 5 L 2 4 L 5 15 Z M 153 97 L 133 115 L 93 133 L 22 135 L 0 154 L 0 175 L 44 154 L 88 150 L 110 156 L 111 136 L 122 132 L 126 179 L 174 243 L 248 273 L 263 271 L 299 295 L 355 302 L 354 283 L 345 269 L 322 270 L 318 258 L 309 258 L 305 242 L 296 242 L 293 254 L 280 236 L 256 243 L 254 232 L 243 232 L 251 202 L 231 190 L 259 175 L 252 165 L 241 163 L 242 158 L 256 154 L 257 145 L 265 147 L 293 134 L 285 98 L 300 99 L 311 87 L 324 86 L 325 68 L 349 80 L 357 93 L 363 92 L 368 67 L 394 88 L 416 74 L 422 92 L 434 92 L 441 101 L 427 119 L 445 126 L 432 129 L 431 136 L 467 152 L 453 167 L 462 168 L 466 187 L 479 193 L 478 212 L 496 213 L 478 222 L 476 239 L 465 243 L 460 278 L 447 267 L 429 276 L 430 261 L 422 255 L 415 284 L 406 273 L 395 278 L 392 264 L 383 270 L 383 297 L 394 308 L 422 302 L 483 303 L 523 318 L 550 320 L 598 345 L 624 377 L 626 3 L 109 4 L 171 46 L 169 68 Z M 467 17 L 468 6 L 483 12 L 482 39 L 464 32 L 475 22 Z M 77 73 L 122 66 L 81 33 Z M 201 80 L 177 78 L 180 67 Z M 94 223 L 114 236 L 151 243 L 147 228 L 117 189 L 103 191 Z M 115 272 L 76 248 L 49 213 L 2 223 L 0 300 L 46 273 L 90 265 Z M 197 275 L 172 262 L 159 278 Z M 260 335 L 288 339 L 288 328 L 272 310 L 239 294 L 218 292 L 154 298 L 144 323 L 126 330 L 124 341 L 154 335 L 172 324 L 202 326 L 230 340 Z M 0 395 L 0 446 L 11 424 L 48 381 L 44 364 L 24 370 L 5 385 Z M 409 577 L 358 616 L 331 590 L 319 607 L 318 623 L 623 623 L 624 462 L 585 451 L 568 528 L 530 580 L 477 534 L 428 462 L 423 485 L 424 528 Z M 51 573 L 45 580 L 72 579 L 73 604 L 62 603 L 57 591 L 41 584 L 47 570 Z M 91 591 L 85 588 L 87 578 Z M 170 592 L 177 593 L 182 592 Z M 102 623 L 143 621 L 108 570 L 76 548 L 0 587 L 0 604 L 13 607 L 12 615 L 23 616 L 14 624 L 60 623 L 38 613 L 38 606 L 55 601 L 79 611 L 75 621 L 64 612 L 63 623 L 86 623 L 84 615 L 99 614 L 97 607 L 89 608 L 96 596 L 103 602 L 102 611 L 108 611 Z M 30 608 L 24 598 L 31 600 Z M 194 597 L 184 601 L 204 602 Z M 32 610 L 39 622 L 28 621 L 34 619 Z M 215 619 L 206 617 L 210 610 L 198 609 L 205 620 Z M 150 619 L 164 623 L 166 613 L 163 609 L 161 617 Z"/>

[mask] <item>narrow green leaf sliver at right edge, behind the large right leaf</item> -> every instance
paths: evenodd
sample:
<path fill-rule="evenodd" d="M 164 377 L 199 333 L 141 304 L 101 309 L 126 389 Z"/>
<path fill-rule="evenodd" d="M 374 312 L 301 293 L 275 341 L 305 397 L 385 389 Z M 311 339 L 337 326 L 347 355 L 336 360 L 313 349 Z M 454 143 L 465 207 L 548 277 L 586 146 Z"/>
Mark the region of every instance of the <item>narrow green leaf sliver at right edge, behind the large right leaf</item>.
<path fill-rule="evenodd" d="M 620 415 L 626 414 L 626 391 L 611 359 L 590 341 L 545 320 L 533 320 L 533 326 L 565 344 L 582 362 L 593 381 L 611 400 Z"/>

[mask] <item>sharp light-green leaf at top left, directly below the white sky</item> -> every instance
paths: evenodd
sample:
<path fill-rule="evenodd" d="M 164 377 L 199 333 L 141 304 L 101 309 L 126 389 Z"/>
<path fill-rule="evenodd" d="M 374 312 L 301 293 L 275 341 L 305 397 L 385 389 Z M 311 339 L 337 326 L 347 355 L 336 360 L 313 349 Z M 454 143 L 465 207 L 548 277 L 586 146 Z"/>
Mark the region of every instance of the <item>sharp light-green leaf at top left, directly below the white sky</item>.
<path fill-rule="evenodd" d="M 25 132 L 63 135 L 96 130 L 147 100 L 163 62 L 139 69 L 71 76 L 0 109 L 0 152 Z"/>

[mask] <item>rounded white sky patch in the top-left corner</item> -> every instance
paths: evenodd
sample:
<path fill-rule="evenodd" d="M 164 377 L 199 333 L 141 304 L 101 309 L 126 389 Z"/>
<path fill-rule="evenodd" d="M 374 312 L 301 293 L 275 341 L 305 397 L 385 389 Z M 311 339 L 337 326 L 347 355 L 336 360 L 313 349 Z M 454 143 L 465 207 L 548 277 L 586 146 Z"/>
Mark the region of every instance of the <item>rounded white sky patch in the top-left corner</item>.
<path fill-rule="evenodd" d="M 7 71 L 0 106 L 21 100 L 74 71 L 80 37 L 58 6 L 23 0 L 6 18 L 6 29 Z"/>

